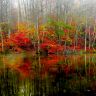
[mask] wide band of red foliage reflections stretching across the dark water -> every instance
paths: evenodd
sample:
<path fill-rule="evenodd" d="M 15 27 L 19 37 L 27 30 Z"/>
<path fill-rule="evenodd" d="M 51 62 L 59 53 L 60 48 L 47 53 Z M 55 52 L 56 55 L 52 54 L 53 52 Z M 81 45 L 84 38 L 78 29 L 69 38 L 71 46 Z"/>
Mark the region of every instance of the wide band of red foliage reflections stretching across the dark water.
<path fill-rule="evenodd" d="M 81 56 L 74 59 L 72 56 L 65 57 L 48 55 L 46 57 L 40 58 L 40 66 L 36 65 L 38 64 L 38 62 L 36 63 L 36 61 L 33 61 L 33 64 L 30 59 L 24 58 L 24 60 L 21 61 L 22 65 L 18 65 L 17 67 L 15 66 L 14 69 L 18 73 L 20 73 L 21 77 L 31 79 L 34 79 L 35 75 L 40 75 L 43 79 L 46 76 L 55 77 L 56 75 L 58 75 L 59 72 L 62 72 L 63 76 L 65 77 L 78 75 L 80 79 L 82 79 L 82 77 L 84 77 L 85 75 L 91 77 L 94 76 L 96 73 L 96 68 L 94 67 L 94 65 L 92 65 L 92 63 L 90 63 L 90 67 L 86 67 L 85 69 L 84 61 L 82 60 L 81 62 L 82 58 L 83 57 Z M 75 60 L 77 59 L 80 61 L 76 62 Z M 69 60 L 71 60 L 71 62 L 69 62 Z"/>

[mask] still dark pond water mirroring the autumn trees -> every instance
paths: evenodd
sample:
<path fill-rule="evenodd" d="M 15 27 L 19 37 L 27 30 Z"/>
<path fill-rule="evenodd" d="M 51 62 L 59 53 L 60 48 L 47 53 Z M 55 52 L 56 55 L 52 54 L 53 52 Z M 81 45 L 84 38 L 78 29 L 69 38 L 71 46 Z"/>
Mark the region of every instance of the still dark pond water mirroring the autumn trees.
<path fill-rule="evenodd" d="M 96 96 L 96 54 L 0 55 L 0 96 Z"/>

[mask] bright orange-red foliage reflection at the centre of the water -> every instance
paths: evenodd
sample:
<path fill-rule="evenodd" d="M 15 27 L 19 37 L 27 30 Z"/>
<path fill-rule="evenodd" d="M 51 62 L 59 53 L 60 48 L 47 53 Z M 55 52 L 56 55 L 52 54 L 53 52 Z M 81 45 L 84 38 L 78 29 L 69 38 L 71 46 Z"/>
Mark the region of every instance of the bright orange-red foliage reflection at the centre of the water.
<path fill-rule="evenodd" d="M 46 75 L 48 73 L 51 73 L 53 75 L 56 75 L 58 72 L 58 66 L 61 61 L 64 60 L 63 56 L 57 56 L 57 55 L 49 55 L 47 58 L 41 58 L 41 75 Z"/>

